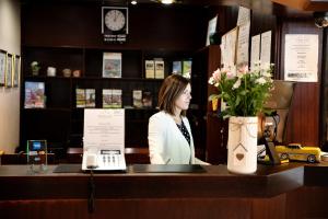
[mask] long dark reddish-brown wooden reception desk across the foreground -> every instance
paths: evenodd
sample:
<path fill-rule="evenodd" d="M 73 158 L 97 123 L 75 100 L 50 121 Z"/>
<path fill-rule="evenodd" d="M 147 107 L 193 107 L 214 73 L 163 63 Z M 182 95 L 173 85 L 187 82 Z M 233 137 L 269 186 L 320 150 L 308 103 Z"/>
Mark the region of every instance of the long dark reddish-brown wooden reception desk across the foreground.
<path fill-rule="evenodd" d="M 197 173 L 46 173 L 0 166 L 1 218 L 325 218 L 328 165 L 259 165 L 235 175 L 225 165 Z M 140 166 L 140 165 L 139 165 Z M 94 208 L 91 209 L 91 182 Z"/>

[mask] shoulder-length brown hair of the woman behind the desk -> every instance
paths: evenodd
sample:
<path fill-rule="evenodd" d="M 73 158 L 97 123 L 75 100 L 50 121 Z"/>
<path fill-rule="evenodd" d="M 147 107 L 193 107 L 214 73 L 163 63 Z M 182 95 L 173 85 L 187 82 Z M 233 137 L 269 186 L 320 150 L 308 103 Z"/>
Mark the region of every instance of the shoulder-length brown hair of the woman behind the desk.
<path fill-rule="evenodd" d="M 159 107 L 161 111 L 165 111 L 166 113 L 174 115 L 175 110 L 175 101 L 177 97 L 185 91 L 186 87 L 190 83 L 190 81 L 183 76 L 179 74 L 171 74 L 168 76 L 159 93 Z M 186 111 L 181 112 L 181 115 L 186 116 Z"/>

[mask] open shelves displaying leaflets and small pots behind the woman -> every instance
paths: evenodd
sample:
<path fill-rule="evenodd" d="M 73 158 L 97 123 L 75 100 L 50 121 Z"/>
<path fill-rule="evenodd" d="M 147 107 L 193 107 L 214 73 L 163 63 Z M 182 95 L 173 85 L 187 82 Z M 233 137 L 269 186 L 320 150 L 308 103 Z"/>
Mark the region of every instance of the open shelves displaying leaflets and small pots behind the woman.
<path fill-rule="evenodd" d="M 168 49 L 148 50 L 140 48 L 110 49 L 108 47 L 75 47 L 75 46 L 22 46 L 23 76 L 21 100 L 25 101 L 25 82 L 44 83 L 45 106 L 43 110 L 22 108 L 21 119 L 24 120 L 21 127 L 21 145 L 35 137 L 50 139 L 63 149 L 68 147 L 82 146 L 83 135 L 83 112 L 84 108 L 126 108 L 126 147 L 148 147 L 148 120 L 151 115 L 157 112 L 157 95 L 163 78 L 171 74 L 173 61 L 190 60 L 192 53 Z M 117 78 L 106 74 L 108 69 L 104 66 L 106 58 L 119 57 L 116 61 L 120 65 Z M 162 72 L 152 78 L 145 74 L 145 60 L 163 60 Z M 37 61 L 39 71 L 33 74 L 31 64 Z M 109 64 L 114 64 L 110 62 Z M 48 76 L 48 67 L 56 69 L 56 73 Z M 114 66 L 115 67 L 115 66 Z M 70 72 L 65 76 L 65 71 Z M 73 76 L 79 71 L 79 76 Z M 118 103 L 105 102 L 106 95 L 110 92 L 118 92 Z M 138 104 L 134 103 L 136 93 L 139 94 Z M 82 96 L 82 99 L 81 99 Z M 134 105 L 138 105 L 137 107 Z M 47 116 L 45 113 L 47 112 Z M 28 112 L 33 112 L 32 118 Z M 54 116 L 51 116 L 54 114 Z M 54 118 L 62 122 L 65 126 L 55 123 L 60 127 L 61 135 L 51 137 L 42 129 L 46 124 L 54 123 Z M 36 127 L 34 120 L 42 119 L 43 126 Z M 56 120 L 56 122 L 57 122 Z M 191 124 L 192 125 L 192 124 Z M 49 125 L 52 126 L 52 125 Z M 33 131 L 30 131 L 34 127 Z M 136 128 L 138 127 L 138 128 Z M 57 128 L 54 128 L 57 129 Z M 58 131 L 57 131 L 58 132 Z"/>

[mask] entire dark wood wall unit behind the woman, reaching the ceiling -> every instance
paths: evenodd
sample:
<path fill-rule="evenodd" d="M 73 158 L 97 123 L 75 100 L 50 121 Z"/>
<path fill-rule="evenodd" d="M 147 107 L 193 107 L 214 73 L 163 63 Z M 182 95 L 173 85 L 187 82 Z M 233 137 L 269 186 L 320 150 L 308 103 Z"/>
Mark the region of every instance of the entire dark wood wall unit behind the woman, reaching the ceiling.
<path fill-rule="evenodd" d="M 125 44 L 103 42 L 101 9 L 99 3 L 91 1 L 28 1 L 22 4 L 21 149 L 32 138 L 48 139 L 49 148 L 52 146 L 62 152 L 67 147 L 81 147 L 83 110 L 75 107 L 77 88 L 95 89 L 95 107 L 103 107 L 103 89 L 121 89 L 124 106 L 132 105 L 132 90 L 150 91 L 152 108 L 126 110 L 126 147 L 148 147 L 148 118 L 156 112 L 159 88 L 163 80 L 145 79 L 144 61 L 163 58 L 164 72 L 168 76 L 172 61 L 192 59 L 192 100 L 187 116 L 196 152 L 204 159 L 207 81 L 208 72 L 214 68 L 209 64 L 220 61 L 220 56 L 215 58 L 211 55 L 219 46 L 203 45 L 208 21 L 219 9 L 183 4 L 129 7 L 129 35 Z M 224 11 L 224 8 L 220 9 L 220 12 Z M 222 22 L 227 21 L 220 19 L 220 26 Z M 104 51 L 122 54 L 121 78 L 102 77 Z M 32 76 L 30 66 L 35 60 L 42 66 L 37 77 Z M 56 77 L 46 76 L 49 66 L 57 69 Z M 65 78 L 65 68 L 81 70 L 81 77 Z M 24 108 L 25 81 L 45 82 L 45 108 Z"/>

